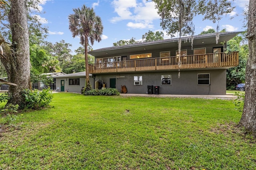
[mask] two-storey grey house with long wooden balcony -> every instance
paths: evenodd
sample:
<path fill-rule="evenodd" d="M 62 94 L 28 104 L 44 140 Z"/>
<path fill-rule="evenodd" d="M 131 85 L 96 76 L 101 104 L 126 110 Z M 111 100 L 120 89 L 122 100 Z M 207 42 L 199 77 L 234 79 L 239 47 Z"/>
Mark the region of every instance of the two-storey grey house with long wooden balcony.
<path fill-rule="evenodd" d="M 239 62 L 237 51 L 226 51 L 226 42 L 239 33 L 220 33 L 218 44 L 215 33 L 194 36 L 193 47 L 191 37 L 183 37 L 180 77 L 178 38 L 89 51 L 95 57 L 89 72 L 106 87 L 125 85 L 128 93 L 145 94 L 153 85 L 160 94 L 225 95 L 226 69 Z"/>

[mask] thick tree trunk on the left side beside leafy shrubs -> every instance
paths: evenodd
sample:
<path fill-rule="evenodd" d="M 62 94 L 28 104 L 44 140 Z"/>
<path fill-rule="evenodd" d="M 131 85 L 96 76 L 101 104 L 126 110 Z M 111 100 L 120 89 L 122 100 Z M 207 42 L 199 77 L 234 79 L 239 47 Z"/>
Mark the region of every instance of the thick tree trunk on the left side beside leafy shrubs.
<path fill-rule="evenodd" d="M 12 31 L 12 46 L 3 45 L 5 58 L 1 61 L 6 69 L 8 81 L 17 84 L 10 86 L 8 103 L 22 105 L 23 89 L 30 87 L 30 53 L 28 39 L 28 11 L 26 0 L 12 0 L 8 15 Z"/>

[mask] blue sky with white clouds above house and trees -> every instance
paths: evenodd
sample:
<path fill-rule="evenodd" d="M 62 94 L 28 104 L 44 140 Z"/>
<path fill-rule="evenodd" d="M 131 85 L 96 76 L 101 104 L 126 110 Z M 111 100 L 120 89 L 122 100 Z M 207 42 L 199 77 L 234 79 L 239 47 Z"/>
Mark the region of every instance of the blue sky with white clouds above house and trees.
<path fill-rule="evenodd" d="M 43 26 L 49 30 L 47 41 L 55 43 L 65 40 L 72 44 L 72 51 L 82 46 L 80 39 L 73 38 L 68 29 L 68 15 L 73 14 L 73 8 L 81 8 L 83 4 L 94 8 L 96 15 L 102 19 L 104 26 L 102 41 L 94 42 L 93 49 L 112 47 L 114 42 L 129 40 L 134 37 L 141 40 L 142 35 L 148 32 L 165 31 L 160 26 L 160 16 L 150 0 L 40 0 L 40 14 L 37 14 Z M 234 0 L 235 10 L 223 16 L 220 21 L 220 30 L 226 28 L 228 32 L 244 31 L 242 11 L 246 9 L 249 0 Z M 230 17 L 233 17 L 230 20 Z M 217 24 L 211 21 L 202 21 L 201 16 L 194 18 L 195 35 L 203 30 L 214 28 Z M 166 34 L 164 39 L 169 38 Z"/>

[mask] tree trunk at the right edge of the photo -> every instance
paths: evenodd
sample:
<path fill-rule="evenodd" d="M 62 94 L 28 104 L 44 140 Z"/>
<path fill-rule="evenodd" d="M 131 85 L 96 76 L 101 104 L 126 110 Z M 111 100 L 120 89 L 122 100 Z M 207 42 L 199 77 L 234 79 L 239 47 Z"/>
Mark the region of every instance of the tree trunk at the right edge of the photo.
<path fill-rule="evenodd" d="M 246 64 L 244 110 L 239 125 L 256 136 L 256 0 L 250 0 L 248 11 L 249 57 Z"/>

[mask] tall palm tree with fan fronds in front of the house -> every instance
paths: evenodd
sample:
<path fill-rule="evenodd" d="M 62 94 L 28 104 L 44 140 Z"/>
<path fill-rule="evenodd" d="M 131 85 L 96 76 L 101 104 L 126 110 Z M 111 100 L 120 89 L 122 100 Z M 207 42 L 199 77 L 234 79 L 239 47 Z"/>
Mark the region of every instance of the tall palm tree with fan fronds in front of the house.
<path fill-rule="evenodd" d="M 76 36 L 80 37 L 80 43 L 84 45 L 84 55 L 85 55 L 85 67 L 86 67 L 86 89 L 90 89 L 89 84 L 89 65 L 88 65 L 88 43 L 89 39 L 91 44 L 94 41 L 101 41 L 101 36 L 103 32 L 103 26 L 101 18 L 96 16 L 93 8 L 88 8 L 85 5 L 82 8 L 73 9 L 74 14 L 68 16 L 69 20 L 69 30 L 72 32 L 73 38 Z"/>

